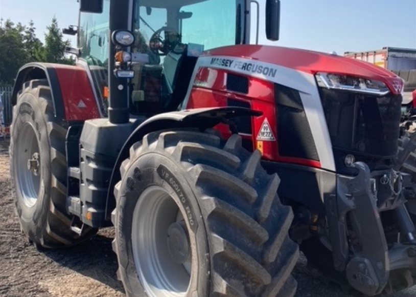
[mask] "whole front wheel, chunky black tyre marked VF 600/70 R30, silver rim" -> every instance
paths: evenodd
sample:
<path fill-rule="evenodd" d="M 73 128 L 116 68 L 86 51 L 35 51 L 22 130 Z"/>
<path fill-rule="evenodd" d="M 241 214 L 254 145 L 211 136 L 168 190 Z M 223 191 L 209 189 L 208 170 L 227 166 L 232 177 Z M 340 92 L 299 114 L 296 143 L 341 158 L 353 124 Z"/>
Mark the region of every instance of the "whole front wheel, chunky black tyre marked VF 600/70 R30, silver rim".
<path fill-rule="evenodd" d="M 298 246 L 261 155 L 193 131 L 130 149 L 115 186 L 113 249 L 127 295 L 291 297 Z"/>

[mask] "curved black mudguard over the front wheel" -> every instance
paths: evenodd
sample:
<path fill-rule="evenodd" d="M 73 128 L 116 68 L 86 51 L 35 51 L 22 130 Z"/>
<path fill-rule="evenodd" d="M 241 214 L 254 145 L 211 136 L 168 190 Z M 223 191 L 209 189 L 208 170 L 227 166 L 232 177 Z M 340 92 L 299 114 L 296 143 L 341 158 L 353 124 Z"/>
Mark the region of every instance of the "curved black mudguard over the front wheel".
<path fill-rule="evenodd" d="M 261 116 L 260 111 L 245 108 L 203 108 L 183 110 L 155 115 L 140 124 L 124 143 L 115 162 L 108 186 L 106 220 L 111 220 L 111 211 L 115 207 L 113 195 L 114 185 L 121 179 L 121 163 L 129 157 L 130 147 L 143 139 L 146 134 L 165 129 L 197 128 L 201 131 L 212 128 L 219 123 L 227 123 L 228 119 L 240 116 Z"/>

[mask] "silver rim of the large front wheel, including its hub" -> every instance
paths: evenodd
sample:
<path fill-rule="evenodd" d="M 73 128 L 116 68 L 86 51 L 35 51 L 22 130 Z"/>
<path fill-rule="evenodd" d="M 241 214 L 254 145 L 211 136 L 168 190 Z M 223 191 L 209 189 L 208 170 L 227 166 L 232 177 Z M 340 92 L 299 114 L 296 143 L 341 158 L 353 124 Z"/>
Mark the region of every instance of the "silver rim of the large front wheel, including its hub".
<path fill-rule="evenodd" d="M 187 294 L 192 275 L 188 227 L 164 188 L 151 186 L 140 196 L 133 213 L 132 248 L 138 276 L 150 296 Z"/>

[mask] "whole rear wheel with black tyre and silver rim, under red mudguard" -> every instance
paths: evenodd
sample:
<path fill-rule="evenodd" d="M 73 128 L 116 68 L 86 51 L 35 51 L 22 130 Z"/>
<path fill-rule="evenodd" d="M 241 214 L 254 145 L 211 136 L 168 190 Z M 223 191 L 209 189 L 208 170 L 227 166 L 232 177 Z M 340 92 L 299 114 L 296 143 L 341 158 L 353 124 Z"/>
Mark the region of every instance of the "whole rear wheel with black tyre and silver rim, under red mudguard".
<path fill-rule="evenodd" d="M 55 121 L 47 80 L 24 84 L 14 107 L 10 139 L 12 193 L 22 231 L 46 248 L 77 244 L 96 233 L 71 230 L 66 213 L 66 129 Z"/>

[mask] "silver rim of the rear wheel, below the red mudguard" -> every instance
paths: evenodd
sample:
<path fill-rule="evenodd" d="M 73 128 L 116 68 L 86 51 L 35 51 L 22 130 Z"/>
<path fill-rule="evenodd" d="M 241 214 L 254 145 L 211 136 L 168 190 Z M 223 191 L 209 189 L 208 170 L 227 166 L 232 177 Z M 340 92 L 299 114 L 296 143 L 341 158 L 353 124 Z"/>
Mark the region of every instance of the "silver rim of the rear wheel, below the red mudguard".
<path fill-rule="evenodd" d="M 28 207 L 36 204 L 40 188 L 39 143 L 32 124 L 24 123 L 15 145 L 15 180 L 24 203 Z"/>

